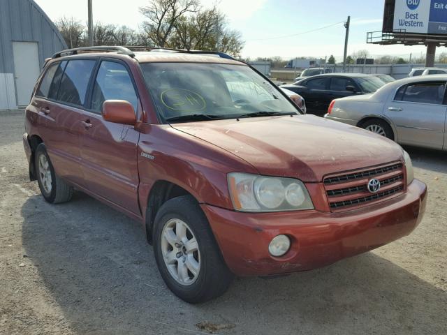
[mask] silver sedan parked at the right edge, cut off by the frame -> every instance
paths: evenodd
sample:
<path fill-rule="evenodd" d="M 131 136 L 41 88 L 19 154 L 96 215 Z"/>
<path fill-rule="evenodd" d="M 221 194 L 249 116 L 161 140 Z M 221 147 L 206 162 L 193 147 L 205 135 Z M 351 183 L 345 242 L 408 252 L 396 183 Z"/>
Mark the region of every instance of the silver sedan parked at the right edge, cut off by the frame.
<path fill-rule="evenodd" d="M 400 144 L 446 150 L 446 82 L 447 75 L 397 80 L 370 96 L 336 99 L 325 118 Z"/>

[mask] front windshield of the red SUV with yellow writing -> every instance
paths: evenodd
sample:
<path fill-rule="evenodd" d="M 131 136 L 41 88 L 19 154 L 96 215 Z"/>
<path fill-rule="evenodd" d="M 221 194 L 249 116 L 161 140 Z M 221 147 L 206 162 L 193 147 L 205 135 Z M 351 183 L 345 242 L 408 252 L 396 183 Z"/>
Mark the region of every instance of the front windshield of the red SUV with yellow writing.
<path fill-rule="evenodd" d="M 296 114 L 279 89 L 248 66 L 143 63 L 142 73 L 164 121 L 205 121 Z"/>

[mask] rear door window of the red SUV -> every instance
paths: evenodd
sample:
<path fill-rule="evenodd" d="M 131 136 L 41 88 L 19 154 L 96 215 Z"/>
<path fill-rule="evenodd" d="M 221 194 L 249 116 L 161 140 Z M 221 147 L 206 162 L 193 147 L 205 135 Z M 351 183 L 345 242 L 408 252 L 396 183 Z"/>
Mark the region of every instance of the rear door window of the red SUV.
<path fill-rule="evenodd" d="M 93 59 L 68 61 L 59 86 L 57 100 L 73 105 L 84 105 L 91 70 L 95 63 Z"/>

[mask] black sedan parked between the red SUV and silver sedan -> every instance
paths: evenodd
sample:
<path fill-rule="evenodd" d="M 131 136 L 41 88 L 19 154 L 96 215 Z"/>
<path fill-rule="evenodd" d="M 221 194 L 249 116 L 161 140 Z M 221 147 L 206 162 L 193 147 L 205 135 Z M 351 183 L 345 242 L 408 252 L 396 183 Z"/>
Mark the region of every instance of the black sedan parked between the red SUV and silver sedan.
<path fill-rule="evenodd" d="M 308 114 L 320 117 L 328 112 L 329 104 L 336 98 L 374 93 L 385 83 L 378 77 L 362 73 L 332 73 L 316 75 L 295 84 L 281 85 L 300 94 L 305 101 Z"/>

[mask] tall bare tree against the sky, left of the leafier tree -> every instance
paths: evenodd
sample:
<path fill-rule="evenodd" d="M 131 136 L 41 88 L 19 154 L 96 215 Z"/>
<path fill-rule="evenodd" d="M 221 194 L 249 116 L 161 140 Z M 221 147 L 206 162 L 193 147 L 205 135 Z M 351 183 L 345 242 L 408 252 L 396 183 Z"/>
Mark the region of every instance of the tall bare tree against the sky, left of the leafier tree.
<path fill-rule="evenodd" d="M 198 0 L 152 0 L 140 13 L 146 17 L 142 27 L 149 40 L 159 47 L 166 47 L 177 20 L 186 13 L 195 13 Z"/>

